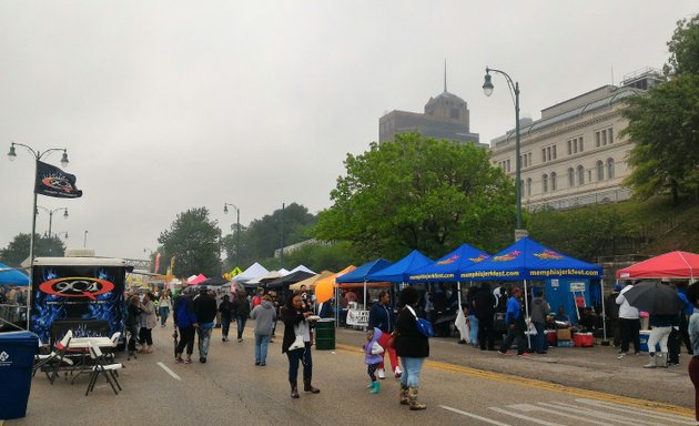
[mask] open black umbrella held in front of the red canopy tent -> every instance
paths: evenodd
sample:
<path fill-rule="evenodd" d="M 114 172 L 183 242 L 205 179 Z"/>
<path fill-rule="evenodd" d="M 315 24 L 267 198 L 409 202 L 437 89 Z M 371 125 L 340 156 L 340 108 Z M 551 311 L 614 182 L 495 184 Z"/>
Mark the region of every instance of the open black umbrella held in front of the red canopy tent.
<path fill-rule="evenodd" d="M 657 281 L 637 283 L 624 293 L 629 305 L 650 315 L 677 315 L 685 307 L 685 302 L 675 288 Z"/>

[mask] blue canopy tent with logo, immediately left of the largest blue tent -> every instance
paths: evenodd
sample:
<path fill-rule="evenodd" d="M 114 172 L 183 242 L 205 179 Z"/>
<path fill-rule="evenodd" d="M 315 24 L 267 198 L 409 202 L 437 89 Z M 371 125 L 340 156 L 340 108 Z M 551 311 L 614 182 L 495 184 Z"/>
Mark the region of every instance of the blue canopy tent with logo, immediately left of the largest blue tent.
<path fill-rule="evenodd" d="M 462 305 L 462 280 L 460 271 L 479 263 L 490 255 L 482 250 L 462 244 L 435 262 L 421 268 L 409 272 L 406 276 L 408 283 L 432 283 L 440 281 L 452 281 L 457 284 L 458 305 Z"/>

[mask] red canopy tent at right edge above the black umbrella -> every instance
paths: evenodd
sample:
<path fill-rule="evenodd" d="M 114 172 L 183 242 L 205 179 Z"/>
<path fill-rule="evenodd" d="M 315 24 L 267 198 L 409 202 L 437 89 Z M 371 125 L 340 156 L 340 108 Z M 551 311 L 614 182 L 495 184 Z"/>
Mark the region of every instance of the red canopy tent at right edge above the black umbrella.
<path fill-rule="evenodd" d="M 617 278 L 699 278 L 699 254 L 670 252 L 617 271 Z"/>

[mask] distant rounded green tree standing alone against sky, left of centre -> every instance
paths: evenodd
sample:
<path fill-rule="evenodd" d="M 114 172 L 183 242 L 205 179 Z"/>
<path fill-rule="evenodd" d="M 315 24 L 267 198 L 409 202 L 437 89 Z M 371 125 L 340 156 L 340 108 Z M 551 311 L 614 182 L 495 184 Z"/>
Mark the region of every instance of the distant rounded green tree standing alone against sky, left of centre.
<path fill-rule="evenodd" d="M 163 231 L 158 239 L 162 245 L 161 258 L 169 260 L 174 255 L 173 274 L 180 277 L 199 273 L 206 276 L 219 275 L 220 232 L 216 221 L 209 219 L 206 207 L 180 213 L 170 230 Z M 161 270 L 164 271 L 166 266 L 161 262 Z"/>

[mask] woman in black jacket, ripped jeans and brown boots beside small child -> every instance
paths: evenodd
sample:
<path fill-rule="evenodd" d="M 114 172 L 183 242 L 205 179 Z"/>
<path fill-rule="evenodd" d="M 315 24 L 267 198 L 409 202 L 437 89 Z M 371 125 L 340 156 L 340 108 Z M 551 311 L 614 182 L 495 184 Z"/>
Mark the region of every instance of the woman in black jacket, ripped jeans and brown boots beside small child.
<path fill-rule="evenodd" d="M 417 291 L 405 287 L 401 292 L 401 304 L 404 305 L 396 321 L 395 347 L 403 364 L 401 376 L 401 404 L 409 405 L 411 409 L 425 409 L 427 406 L 417 403 L 419 373 L 429 356 L 429 341 L 417 328 Z"/>

